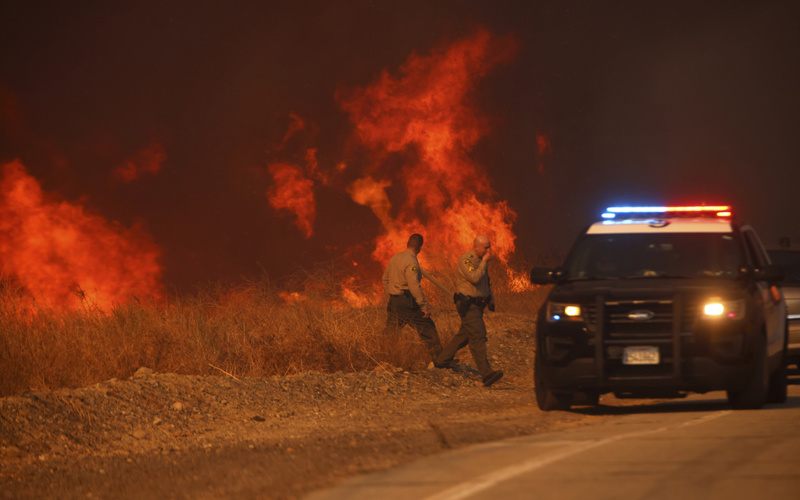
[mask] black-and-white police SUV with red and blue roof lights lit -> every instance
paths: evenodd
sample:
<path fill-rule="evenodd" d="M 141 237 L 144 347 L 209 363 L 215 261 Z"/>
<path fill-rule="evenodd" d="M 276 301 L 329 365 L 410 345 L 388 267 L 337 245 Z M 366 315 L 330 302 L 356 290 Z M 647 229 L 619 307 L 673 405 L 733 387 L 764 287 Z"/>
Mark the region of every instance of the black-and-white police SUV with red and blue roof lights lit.
<path fill-rule="evenodd" d="M 600 394 L 671 398 L 727 391 L 733 408 L 786 400 L 786 304 L 756 232 L 727 206 L 611 207 L 563 266 L 539 311 L 542 410 Z M 578 401 L 575 400 L 577 403 Z"/>

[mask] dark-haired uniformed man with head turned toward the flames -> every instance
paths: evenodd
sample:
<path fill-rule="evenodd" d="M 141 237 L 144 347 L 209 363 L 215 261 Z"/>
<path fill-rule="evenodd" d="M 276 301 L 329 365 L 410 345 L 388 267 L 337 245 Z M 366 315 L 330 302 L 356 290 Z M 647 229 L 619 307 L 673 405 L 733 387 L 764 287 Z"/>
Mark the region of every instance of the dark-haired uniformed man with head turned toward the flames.
<path fill-rule="evenodd" d="M 383 288 L 389 294 L 386 307 L 388 316 L 384 333 L 393 333 L 405 325 L 412 325 L 425 342 L 433 359 L 442 352 L 442 343 L 431 310 L 419 286 L 422 271 L 417 254 L 422 250 L 422 235 L 412 234 L 407 248 L 389 259 L 383 273 Z"/>

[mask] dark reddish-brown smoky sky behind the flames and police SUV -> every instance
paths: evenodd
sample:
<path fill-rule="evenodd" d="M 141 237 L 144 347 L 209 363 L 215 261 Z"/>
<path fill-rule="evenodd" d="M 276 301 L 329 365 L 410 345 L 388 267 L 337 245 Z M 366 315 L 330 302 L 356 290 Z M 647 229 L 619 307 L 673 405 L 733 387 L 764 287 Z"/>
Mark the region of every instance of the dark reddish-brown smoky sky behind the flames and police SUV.
<path fill-rule="evenodd" d="M 768 243 L 800 242 L 796 1 L 6 0 L 0 160 L 143 224 L 169 285 L 289 274 L 378 232 L 342 189 L 317 191 L 308 240 L 269 207 L 266 165 L 302 162 L 276 154 L 289 114 L 313 124 L 291 151 L 334 165 L 352 132 L 338 89 L 476 26 L 519 44 L 476 89 L 492 128 L 471 156 L 517 211 L 522 254 L 563 251 L 626 203 L 730 203 Z M 158 175 L 114 182 L 152 141 Z"/>

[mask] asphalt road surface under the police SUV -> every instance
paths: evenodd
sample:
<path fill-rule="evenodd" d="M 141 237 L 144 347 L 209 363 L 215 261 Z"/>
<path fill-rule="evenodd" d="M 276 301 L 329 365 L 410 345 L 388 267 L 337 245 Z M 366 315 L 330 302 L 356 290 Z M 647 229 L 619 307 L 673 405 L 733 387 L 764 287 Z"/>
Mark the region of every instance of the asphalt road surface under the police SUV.
<path fill-rule="evenodd" d="M 761 410 L 730 410 L 721 392 L 577 409 L 615 418 L 431 456 L 307 498 L 800 498 L 800 377 L 790 383 L 785 404 Z"/>

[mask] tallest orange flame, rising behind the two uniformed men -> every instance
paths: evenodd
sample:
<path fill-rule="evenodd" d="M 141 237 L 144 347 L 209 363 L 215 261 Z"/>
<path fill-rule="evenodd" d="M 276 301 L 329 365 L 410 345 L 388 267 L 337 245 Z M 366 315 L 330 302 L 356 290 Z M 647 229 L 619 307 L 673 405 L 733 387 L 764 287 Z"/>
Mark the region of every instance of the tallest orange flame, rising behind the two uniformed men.
<path fill-rule="evenodd" d="M 516 214 L 507 203 L 492 201 L 489 180 L 468 153 L 487 131 L 469 105 L 471 92 L 479 77 L 514 50 L 511 39 L 478 30 L 428 57 L 412 55 L 399 77 L 384 72 L 372 85 L 338 96 L 357 140 L 374 152 L 372 174 L 348 191 L 383 223 L 376 261 L 385 263 L 405 248 L 413 232 L 426 236 L 426 247 L 433 248 L 426 258 L 438 255 L 450 264 L 480 233 L 489 236 L 502 260 L 513 253 Z M 389 171 L 385 160 L 392 154 L 401 155 L 404 164 Z M 375 179 L 379 172 L 402 180 L 405 197 L 395 218 L 385 193 L 390 181 Z"/>

